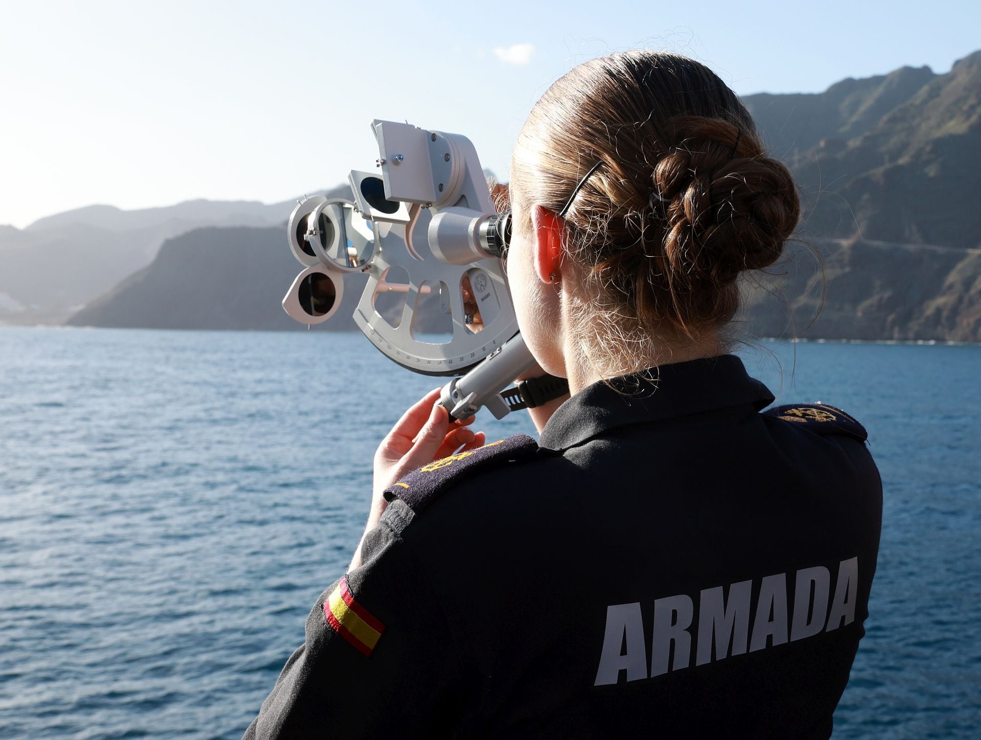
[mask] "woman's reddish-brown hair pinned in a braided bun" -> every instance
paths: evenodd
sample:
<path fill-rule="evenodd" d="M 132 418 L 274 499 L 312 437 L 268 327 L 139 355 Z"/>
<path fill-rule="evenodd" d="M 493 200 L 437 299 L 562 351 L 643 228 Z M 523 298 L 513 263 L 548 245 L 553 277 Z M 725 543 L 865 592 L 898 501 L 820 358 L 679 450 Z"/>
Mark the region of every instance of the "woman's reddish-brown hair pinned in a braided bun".
<path fill-rule="evenodd" d="M 596 163 L 563 235 L 587 350 L 715 331 L 739 309 L 739 274 L 773 264 L 800 218 L 791 173 L 739 98 L 677 54 L 594 59 L 548 88 L 514 150 L 517 228 L 535 204 L 559 213 Z"/>

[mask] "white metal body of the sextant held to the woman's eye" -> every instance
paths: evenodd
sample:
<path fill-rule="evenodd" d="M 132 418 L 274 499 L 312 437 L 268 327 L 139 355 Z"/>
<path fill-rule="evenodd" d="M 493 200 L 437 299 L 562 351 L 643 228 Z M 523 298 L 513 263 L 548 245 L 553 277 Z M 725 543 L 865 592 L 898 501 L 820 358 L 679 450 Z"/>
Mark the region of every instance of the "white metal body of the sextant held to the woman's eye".
<path fill-rule="evenodd" d="M 393 362 L 416 372 L 463 375 L 481 366 L 468 375 L 470 379 L 447 385 L 443 404 L 461 413 L 475 404 L 473 411 L 490 405 L 494 416 L 503 416 L 506 404 L 497 394 L 535 361 L 520 337 L 500 354 L 518 333 L 518 324 L 500 261 L 478 244 L 481 224 L 495 211 L 477 151 L 465 136 L 409 123 L 374 121 L 372 130 L 381 172 L 350 173 L 353 202 L 316 196 L 302 201 L 290 217 L 290 249 L 307 268 L 301 275 L 318 269 L 366 272 L 368 283 L 354 312 L 365 336 Z M 420 239 L 424 209 L 433 218 Z M 323 245 L 317 225 L 321 215 L 333 224 L 326 230 L 329 243 Z M 361 227 L 362 222 L 370 226 Z M 387 280 L 392 269 L 404 271 L 407 284 Z M 287 293 L 284 308 L 293 319 L 312 323 L 295 296 L 290 298 L 299 279 Z M 480 310 L 478 331 L 466 313 L 465 281 Z M 419 338 L 413 325 L 419 296 L 436 290 L 442 310 L 452 319 L 451 336 L 442 343 Z M 389 291 L 405 293 L 397 326 L 375 309 L 376 298 Z M 489 356 L 494 360 L 485 363 Z"/>

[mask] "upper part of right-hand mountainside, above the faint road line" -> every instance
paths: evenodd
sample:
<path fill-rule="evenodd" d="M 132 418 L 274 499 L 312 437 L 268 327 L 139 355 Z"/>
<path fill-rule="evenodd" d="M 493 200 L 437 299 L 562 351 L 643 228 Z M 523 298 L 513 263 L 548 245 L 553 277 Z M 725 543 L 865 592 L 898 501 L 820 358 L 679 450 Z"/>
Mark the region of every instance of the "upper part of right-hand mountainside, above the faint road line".
<path fill-rule="evenodd" d="M 981 246 L 981 51 L 818 95 L 745 99 L 804 193 L 804 233 Z"/>

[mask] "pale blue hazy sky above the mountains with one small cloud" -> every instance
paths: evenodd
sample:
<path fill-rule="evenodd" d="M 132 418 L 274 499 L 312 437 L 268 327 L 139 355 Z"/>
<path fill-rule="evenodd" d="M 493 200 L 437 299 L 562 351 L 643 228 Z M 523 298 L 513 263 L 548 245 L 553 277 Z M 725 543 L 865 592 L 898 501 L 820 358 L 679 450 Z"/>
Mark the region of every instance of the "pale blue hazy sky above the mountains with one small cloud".
<path fill-rule="evenodd" d="M 93 203 L 285 200 L 370 169 L 375 118 L 463 133 L 504 174 L 591 57 L 669 49 L 739 93 L 819 91 L 981 48 L 981 2 L 0 0 L 0 223 Z"/>

